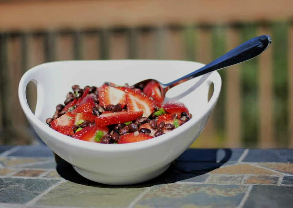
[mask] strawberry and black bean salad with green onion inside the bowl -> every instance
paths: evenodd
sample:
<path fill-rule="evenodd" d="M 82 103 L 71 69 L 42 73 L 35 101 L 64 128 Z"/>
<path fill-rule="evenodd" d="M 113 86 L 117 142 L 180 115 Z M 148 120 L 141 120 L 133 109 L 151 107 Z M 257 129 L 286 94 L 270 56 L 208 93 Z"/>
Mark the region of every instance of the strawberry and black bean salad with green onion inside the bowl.
<path fill-rule="evenodd" d="M 58 104 L 46 123 L 88 142 L 139 142 L 166 134 L 192 118 L 182 102 L 162 101 L 158 86 L 152 83 L 143 89 L 109 82 L 100 87 L 73 85 L 64 105 Z"/>

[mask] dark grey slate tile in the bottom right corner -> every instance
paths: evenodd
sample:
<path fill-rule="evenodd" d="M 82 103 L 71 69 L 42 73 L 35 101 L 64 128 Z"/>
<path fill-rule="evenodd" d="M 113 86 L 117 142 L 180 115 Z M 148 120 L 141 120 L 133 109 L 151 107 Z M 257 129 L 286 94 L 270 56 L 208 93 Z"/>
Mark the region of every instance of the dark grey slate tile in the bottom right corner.
<path fill-rule="evenodd" d="M 243 207 L 292 208 L 292 193 L 293 187 L 289 186 L 255 185 Z"/>

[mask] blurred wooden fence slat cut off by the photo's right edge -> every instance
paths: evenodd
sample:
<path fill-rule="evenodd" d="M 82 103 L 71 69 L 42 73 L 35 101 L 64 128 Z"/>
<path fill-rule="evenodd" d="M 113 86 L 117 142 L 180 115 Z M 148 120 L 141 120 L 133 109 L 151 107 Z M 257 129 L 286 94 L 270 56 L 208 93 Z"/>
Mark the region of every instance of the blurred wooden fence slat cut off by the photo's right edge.
<path fill-rule="evenodd" d="M 289 51 L 288 51 L 288 62 L 289 62 L 289 148 L 293 148 L 293 24 L 291 23 L 289 29 Z"/>

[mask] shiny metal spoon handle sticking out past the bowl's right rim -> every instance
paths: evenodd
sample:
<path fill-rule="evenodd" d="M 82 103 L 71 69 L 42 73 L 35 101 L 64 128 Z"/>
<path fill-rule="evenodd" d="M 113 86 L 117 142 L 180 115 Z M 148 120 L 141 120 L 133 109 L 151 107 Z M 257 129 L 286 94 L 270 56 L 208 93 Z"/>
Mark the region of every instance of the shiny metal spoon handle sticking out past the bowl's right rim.
<path fill-rule="evenodd" d="M 271 42 L 272 39 L 268 35 L 262 35 L 250 39 L 242 43 L 241 45 L 237 46 L 236 48 L 232 49 L 228 53 L 222 55 L 215 61 L 175 81 L 165 84 L 165 86 L 170 89 L 171 87 L 174 87 L 182 82 L 198 77 L 200 75 L 207 74 L 215 70 L 223 69 L 234 64 L 245 62 L 264 52 L 270 46 Z"/>

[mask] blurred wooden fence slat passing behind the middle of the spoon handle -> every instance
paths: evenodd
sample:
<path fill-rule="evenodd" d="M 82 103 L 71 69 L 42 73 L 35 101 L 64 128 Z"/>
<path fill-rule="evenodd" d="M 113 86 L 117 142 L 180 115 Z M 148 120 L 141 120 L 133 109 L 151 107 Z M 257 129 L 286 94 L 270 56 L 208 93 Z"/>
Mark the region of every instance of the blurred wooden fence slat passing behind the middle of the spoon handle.
<path fill-rule="evenodd" d="M 239 32 L 235 28 L 227 31 L 228 50 L 239 45 Z M 240 66 L 230 66 L 226 70 L 226 145 L 230 148 L 241 146 L 241 90 Z"/>

